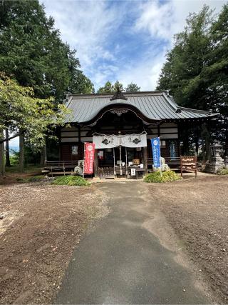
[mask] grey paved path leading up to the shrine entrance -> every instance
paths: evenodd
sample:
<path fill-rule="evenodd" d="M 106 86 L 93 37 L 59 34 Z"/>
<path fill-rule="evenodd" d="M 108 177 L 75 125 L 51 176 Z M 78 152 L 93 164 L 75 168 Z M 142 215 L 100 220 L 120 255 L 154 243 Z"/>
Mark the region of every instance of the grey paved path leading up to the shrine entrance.
<path fill-rule="evenodd" d="M 145 184 L 97 187 L 108 194 L 111 212 L 76 248 L 55 303 L 208 304 L 190 270 L 144 226 L 153 217 Z"/>

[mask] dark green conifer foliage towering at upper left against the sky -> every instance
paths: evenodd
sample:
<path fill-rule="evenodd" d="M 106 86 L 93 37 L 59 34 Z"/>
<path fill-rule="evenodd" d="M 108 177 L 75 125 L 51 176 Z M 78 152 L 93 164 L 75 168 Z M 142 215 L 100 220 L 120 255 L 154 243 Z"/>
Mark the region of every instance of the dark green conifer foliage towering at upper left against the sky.
<path fill-rule="evenodd" d="M 61 41 L 54 19 L 38 0 L 0 1 L 0 71 L 30 86 L 36 97 L 61 102 L 66 91 L 88 93 L 76 51 Z"/>

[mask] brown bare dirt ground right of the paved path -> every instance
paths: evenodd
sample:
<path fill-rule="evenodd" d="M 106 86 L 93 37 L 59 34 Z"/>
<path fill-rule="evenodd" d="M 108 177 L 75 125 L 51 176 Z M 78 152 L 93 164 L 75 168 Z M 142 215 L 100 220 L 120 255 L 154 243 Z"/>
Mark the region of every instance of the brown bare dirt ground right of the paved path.
<path fill-rule="evenodd" d="M 228 177 L 185 176 L 182 181 L 148 188 L 218 302 L 227 304 Z"/>

